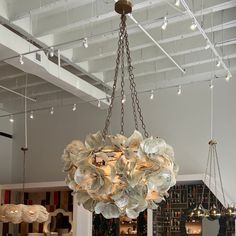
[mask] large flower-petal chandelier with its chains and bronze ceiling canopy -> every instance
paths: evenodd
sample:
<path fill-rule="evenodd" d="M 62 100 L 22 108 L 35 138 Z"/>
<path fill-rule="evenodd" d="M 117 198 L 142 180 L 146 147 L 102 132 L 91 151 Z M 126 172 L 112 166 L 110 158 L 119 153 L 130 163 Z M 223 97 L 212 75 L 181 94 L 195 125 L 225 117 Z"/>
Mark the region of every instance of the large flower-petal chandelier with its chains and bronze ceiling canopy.
<path fill-rule="evenodd" d="M 105 218 L 127 215 L 137 218 L 145 209 L 157 209 L 176 184 L 178 166 L 174 151 L 163 139 L 150 137 L 146 130 L 134 81 L 129 49 L 126 14 L 130 1 L 119 0 L 115 10 L 121 14 L 114 84 L 103 131 L 90 134 L 85 142 L 75 140 L 64 150 L 66 183 L 78 204 Z M 125 57 L 134 115 L 135 131 L 124 136 Z M 108 128 L 116 96 L 118 73 L 121 75 L 121 131 L 109 135 Z M 139 120 L 139 121 L 138 121 Z M 141 124 L 144 137 L 139 129 Z"/>

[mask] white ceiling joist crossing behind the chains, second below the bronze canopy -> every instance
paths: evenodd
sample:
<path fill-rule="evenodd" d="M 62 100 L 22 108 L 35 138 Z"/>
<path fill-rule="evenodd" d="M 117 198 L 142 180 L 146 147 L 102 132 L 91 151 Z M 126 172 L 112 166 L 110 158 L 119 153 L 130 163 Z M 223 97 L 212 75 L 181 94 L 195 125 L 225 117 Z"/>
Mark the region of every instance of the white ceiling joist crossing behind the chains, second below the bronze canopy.
<path fill-rule="evenodd" d="M 225 22 L 223 24 L 220 21 L 220 19 L 216 20 L 213 26 L 209 25 L 208 23 L 208 25 L 206 25 L 205 31 L 208 34 L 210 34 L 211 32 L 222 30 L 222 28 L 226 30 L 226 29 L 235 27 L 236 26 L 236 20 L 234 17 L 235 10 L 236 8 L 227 10 L 227 13 L 229 14 L 227 15 L 226 17 L 227 19 L 225 19 Z M 216 13 L 216 14 L 218 14 L 218 16 L 221 15 L 221 13 Z M 193 38 L 195 36 L 201 35 L 199 31 L 192 32 L 189 29 L 190 24 L 191 24 L 191 21 L 185 21 L 181 23 L 181 26 L 179 26 L 179 24 L 168 25 L 168 30 L 165 32 L 164 35 L 160 33 L 160 31 L 156 29 L 152 29 L 151 34 L 161 45 L 169 43 L 169 42 L 175 42 L 177 40 Z M 176 31 L 176 28 L 178 28 L 178 31 Z M 130 41 L 131 51 L 140 50 L 140 49 L 144 50 L 147 47 L 153 46 L 153 43 L 151 43 L 140 32 L 134 35 L 130 35 L 129 41 Z M 90 44 L 89 48 L 87 48 L 86 50 L 83 48 L 75 48 L 73 49 L 73 55 L 74 55 L 73 61 L 75 63 L 80 63 L 84 61 L 90 61 L 94 59 L 100 59 L 103 57 L 115 55 L 116 44 L 117 42 L 111 39 L 111 40 L 98 43 L 98 44 Z"/>

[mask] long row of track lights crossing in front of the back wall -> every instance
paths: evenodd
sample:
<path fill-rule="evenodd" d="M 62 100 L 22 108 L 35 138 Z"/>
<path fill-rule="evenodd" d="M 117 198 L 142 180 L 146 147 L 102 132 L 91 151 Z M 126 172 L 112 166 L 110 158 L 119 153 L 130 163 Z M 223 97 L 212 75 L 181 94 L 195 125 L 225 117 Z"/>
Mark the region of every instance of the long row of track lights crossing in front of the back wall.
<path fill-rule="evenodd" d="M 222 79 L 219 77 L 215 77 L 217 79 Z M 206 82 L 206 81 L 204 81 Z M 213 80 L 209 80 L 209 89 L 213 89 L 214 88 L 214 84 L 213 84 Z M 191 83 L 190 83 L 191 84 Z M 169 86 L 169 87 L 160 87 L 160 88 L 156 88 L 156 89 L 151 89 L 151 90 L 144 90 L 144 91 L 139 91 L 138 94 L 149 94 L 149 99 L 150 101 L 155 99 L 156 94 L 158 93 L 159 90 L 163 90 L 163 89 L 169 89 L 169 88 L 176 88 L 176 95 L 177 96 L 181 96 L 183 93 L 183 86 L 182 85 L 177 85 L 177 86 Z M 126 94 L 126 95 L 130 95 L 130 94 Z M 122 103 L 125 104 L 127 99 L 126 99 L 126 95 L 123 96 L 122 98 Z M 115 98 L 120 98 L 121 95 L 117 95 Z M 79 104 L 86 104 L 86 103 L 97 103 L 97 107 L 101 108 L 102 107 L 102 101 L 106 100 L 107 102 L 110 102 L 110 97 L 106 96 L 106 98 L 101 98 L 101 99 L 93 99 L 93 100 L 89 100 L 89 101 L 80 101 L 78 103 L 73 103 L 73 104 L 67 104 L 67 105 L 63 105 L 60 107 L 71 107 L 72 112 L 75 112 L 76 110 L 78 110 L 78 106 Z M 35 112 L 36 111 L 45 111 L 48 110 L 50 115 L 54 115 L 55 114 L 55 107 L 51 106 L 51 107 L 43 107 L 43 108 L 39 108 L 39 109 L 33 109 L 33 110 L 28 110 L 27 113 L 29 114 L 29 118 L 31 120 L 33 120 L 35 118 Z M 14 114 L 8 114 L 8 115 L 1 115 L 0 118 L 3 117 L 9 117 L 9 122 L 10 123 L 14 123 L 14 116 L 16 115 L 20 115 L 23 114 L 23 112 L 17 112 Z"/>

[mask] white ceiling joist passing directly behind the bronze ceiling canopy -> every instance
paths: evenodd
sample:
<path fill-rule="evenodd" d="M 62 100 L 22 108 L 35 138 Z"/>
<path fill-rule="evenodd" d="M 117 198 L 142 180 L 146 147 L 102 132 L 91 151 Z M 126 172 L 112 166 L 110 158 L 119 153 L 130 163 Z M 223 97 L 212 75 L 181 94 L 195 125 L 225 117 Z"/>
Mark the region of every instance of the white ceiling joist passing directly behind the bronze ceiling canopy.
<path fill-rule="evenodd" d="M 60 34 L 65 31 L 70 31 L 73 29 L 79 29 L 80 27 L 85 28 L 89 24 L 98 24 L 98 22 L 103 22 L 110 20 L 111 18 L 118 18 L 117 13 L 114 11 L 114 4 L 105 4 L 105 2 L 100 1 L 101 6 L 100 11 L 95 12 L 92 10 L 94 6 L 92 4 L 78 6 L 77 8 L 68 9 L 65 7 L 65 12 L 59 12 L 54 15 L 49 15 L 48 18 L 38 18 L 36 19 L 35 25 L 37 29 L 34 30 L 34 35 L 36 37 L 42 37 L 48 34 Z M 140 11 L 148 8 L 150 6 L 155 7 L 164 4 L 164 0 L 152 0 L 143 1 L 137 3 L 133 7 L 133 11 Z M 75 14 L 75 13 L 79 14 Z M 68 16 L 70 16 L 68 18 Z M 50 24 L 45 24 L 50 18 Z M 52 22 L 53 21 L 53 22 Z M 35 27 L 36 28 L 36 27 Z M 84 30 L 85 33 L 85 30 Z"/>

